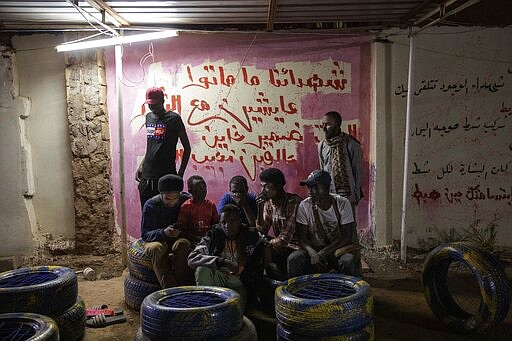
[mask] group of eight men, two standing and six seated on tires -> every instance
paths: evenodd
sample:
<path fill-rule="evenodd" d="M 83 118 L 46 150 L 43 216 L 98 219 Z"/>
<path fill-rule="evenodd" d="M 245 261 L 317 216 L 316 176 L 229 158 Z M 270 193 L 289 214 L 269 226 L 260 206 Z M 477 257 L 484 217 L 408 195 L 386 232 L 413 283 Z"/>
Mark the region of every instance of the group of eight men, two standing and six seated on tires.
<path fill-rule="evenodd" d="M 259 174 L 258 195 L 236 175 L 215 205 L 206 198 L 207 184 L 199 175 L 187 179 L 188 193 L 184 191 L 191 149 L 180 116 L 165 110 L 159 88 L 147 90 L 146 103 L 151 109 L 146 115 L 148 144 L 136 179 L 144 252 L 163 288 L 228 287 L 240 293 L 245 307 L 256 302 L 263 276 L 361 275 L 354 217 L 362 197 L 362 153 L 359 142 L 341 131 L 339 113 L 324 116 L 321 169 L 300 182 L 308 188 L 307 198 L 287 192 L 283 172 L 268 168 Z M 178 139 L 184 154 L 177 172 Z"/>

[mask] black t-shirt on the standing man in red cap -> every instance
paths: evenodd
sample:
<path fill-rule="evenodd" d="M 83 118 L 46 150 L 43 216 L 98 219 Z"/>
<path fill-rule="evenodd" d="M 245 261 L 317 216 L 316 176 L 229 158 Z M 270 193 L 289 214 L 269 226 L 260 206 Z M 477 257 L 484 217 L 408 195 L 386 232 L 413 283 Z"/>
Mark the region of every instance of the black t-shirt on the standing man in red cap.
<path fill-rule="evenodd" d="M 146 115 L 146 156 L 142 168 L 144 179 L 158 179 L 176 174 L 176 145 L 178 134 L 185 130 L 181 116 L 167 111 L 162 116 Z"/>

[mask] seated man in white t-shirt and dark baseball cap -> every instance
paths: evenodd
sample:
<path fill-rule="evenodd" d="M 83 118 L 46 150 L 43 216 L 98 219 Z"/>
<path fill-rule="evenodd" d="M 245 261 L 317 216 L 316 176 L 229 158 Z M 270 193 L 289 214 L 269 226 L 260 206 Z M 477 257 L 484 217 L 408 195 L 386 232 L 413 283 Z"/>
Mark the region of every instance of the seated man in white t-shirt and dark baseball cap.
<path fill-rule="evenodd" d="M 313 171 L 301 186 L 308 186 L 309 197 L 297 210 L 297 233 L 302 249 L 289 257 L 290 276 L 301 276 L 334 269 L 352 276 L 361 275 L 356 224 L 348 199 L 330 194 L 331 176 L 324 170 Z M 353 245 L 351 252 L 342 247 Z"/>

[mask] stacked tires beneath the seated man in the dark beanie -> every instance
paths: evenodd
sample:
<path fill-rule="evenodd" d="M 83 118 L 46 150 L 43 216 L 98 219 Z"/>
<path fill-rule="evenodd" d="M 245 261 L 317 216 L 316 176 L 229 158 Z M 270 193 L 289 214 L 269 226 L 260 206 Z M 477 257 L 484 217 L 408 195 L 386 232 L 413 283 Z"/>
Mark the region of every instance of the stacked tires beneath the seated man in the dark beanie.
<path fill-rule="evenodd" d="M 144 298 L 160 290 L 151 257 L 144 253 L 144 241 L 134 241 L 128 249 L 128 272 L 124 279 L 124 300 L 128 307 L 139 310 Z"/>

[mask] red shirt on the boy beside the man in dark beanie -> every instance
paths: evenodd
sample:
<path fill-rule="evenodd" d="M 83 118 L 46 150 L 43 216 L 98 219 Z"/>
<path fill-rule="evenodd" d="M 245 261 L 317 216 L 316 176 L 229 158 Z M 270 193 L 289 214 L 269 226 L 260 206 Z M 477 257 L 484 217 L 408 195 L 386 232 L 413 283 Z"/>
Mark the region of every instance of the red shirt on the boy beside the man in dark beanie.
<path fill-rule="evenodd" d="M 211 200 L 204 199 L 202 203 L 197 204 L 190 198 L 181 205 L 178 225 L 185 237 L 187 234 L 203 237 L 210 227 L 218 222 L 217 207 Z"/>

